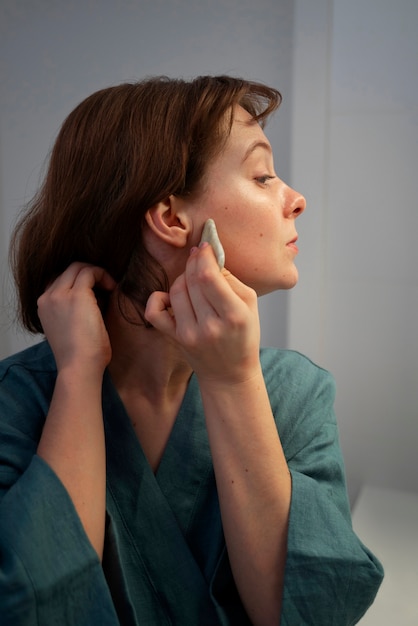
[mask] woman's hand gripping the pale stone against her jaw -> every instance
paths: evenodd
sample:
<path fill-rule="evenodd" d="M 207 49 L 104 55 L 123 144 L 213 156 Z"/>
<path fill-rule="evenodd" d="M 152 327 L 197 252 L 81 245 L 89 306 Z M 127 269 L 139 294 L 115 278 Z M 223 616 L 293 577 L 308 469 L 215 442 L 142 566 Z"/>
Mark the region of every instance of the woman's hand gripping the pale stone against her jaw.
<path fill-rule="evenodd" d="M 201 381 L 240 383 L 259 371 L 257 294 L 219 270 L 208 244 L 191 250 L 169 293 L 150 296 L 145 317 L 179 343 Z"/>

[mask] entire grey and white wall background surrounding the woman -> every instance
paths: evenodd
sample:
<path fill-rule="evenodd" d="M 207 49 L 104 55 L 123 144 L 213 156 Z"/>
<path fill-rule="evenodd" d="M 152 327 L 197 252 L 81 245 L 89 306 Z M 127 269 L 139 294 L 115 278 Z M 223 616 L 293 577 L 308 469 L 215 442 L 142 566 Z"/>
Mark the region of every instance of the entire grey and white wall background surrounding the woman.
<path fill-rule="evenodd" d="M 278 86 L 268 132 L 305 193 L 300 284 L 261 299 L 263 343 L 330 369 L 351 499 L 418 491 L 418 3 L 415 0 L 3 0 L 0 286 L 10 227 L 65 115 L 147 74 Z M 3 288 L 0 356 L 26 345 Z"/>

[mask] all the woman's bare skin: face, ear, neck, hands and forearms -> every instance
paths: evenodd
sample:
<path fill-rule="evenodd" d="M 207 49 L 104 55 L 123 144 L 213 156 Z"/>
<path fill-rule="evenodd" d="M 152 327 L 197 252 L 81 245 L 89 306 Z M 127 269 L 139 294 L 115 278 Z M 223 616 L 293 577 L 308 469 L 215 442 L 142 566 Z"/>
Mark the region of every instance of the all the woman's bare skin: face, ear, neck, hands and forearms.
<path fill-rule="evenodd" d="M 170 196 L 147 213 L 146 245 L 171 285 L 148 301 L 153 329 L 129 324 L 117 285 L 85 264 L 71 265 L 39 300 L 58 378 L 38 453 L 67 487 L 97 553 L 105 519 L 105 367 L 154 470 L 194 371 L 231 567 L 256 626 L 279 623 L 291 497 L 259 362 L 257 296 L 296 283 L 291 242 L 304 208 L 304 198 L 276 176 L 263 131 L 238 107 L 201 190 Z M 221 271 L 211 246 L 199 245 L 209 218 L 225 248 Z M 95 284 L 112 292 L 105 320 Z"/>

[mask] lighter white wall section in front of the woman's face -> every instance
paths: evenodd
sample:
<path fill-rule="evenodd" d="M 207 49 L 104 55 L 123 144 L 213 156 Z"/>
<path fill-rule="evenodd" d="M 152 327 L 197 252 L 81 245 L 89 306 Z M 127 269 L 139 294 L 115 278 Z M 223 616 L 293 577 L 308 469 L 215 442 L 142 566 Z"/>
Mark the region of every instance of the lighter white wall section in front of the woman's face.
<path fill-rule="evenodd" d="M 295 6 L 289 344 L 337 379 L 352 499 L 418 492 L 418 3 Z"/>

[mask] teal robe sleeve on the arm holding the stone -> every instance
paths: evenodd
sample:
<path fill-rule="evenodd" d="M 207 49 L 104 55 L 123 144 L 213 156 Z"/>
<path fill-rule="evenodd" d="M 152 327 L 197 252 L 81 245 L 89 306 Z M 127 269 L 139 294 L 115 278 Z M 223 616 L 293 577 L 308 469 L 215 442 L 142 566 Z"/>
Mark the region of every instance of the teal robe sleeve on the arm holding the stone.
<path fill-rule="evenodd" d="M 302 355 L 288 358 L 272 392 L 292 477 L 281 626 L 349 626 L 373 603 L 383 569 L 352 528 L 334 379 Z"/>

